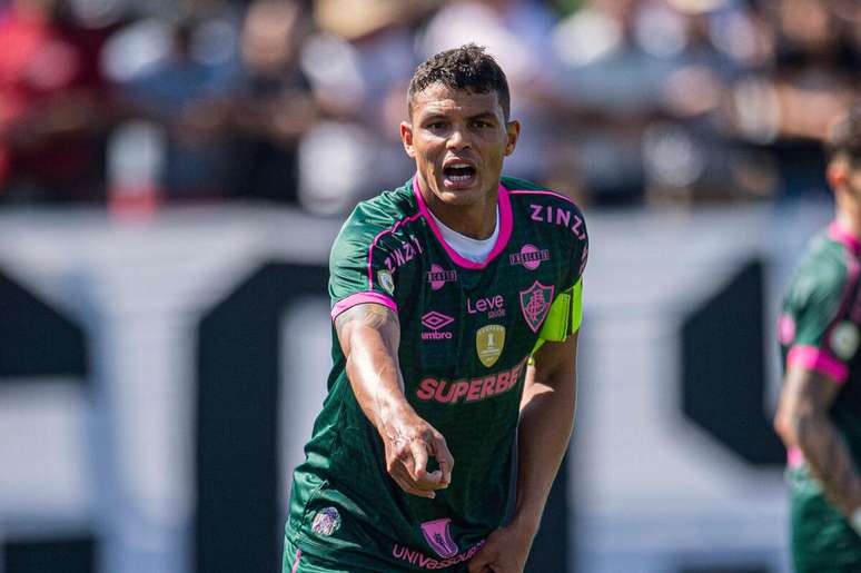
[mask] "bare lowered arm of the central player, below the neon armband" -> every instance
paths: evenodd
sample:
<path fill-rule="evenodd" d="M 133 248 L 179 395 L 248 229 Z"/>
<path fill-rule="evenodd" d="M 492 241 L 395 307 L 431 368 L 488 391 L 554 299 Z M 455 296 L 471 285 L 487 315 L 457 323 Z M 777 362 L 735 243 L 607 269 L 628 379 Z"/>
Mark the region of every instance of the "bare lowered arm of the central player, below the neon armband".
<path fill-rule="evenodd" d="M 530 368 L 521 403 L 517 504 L 513 520 L 533 535 L 568 446 L 576 402 L 573 372 L 557 371 L 553 379 L 546 381 L 535 379 L 535 369 Z"/>

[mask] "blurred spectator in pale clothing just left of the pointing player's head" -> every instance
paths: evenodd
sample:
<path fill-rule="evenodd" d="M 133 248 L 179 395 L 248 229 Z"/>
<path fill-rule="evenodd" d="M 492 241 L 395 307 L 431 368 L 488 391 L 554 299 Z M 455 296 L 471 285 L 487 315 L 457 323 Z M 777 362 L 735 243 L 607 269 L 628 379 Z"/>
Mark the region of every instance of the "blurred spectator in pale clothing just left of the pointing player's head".
<path fill-rule="evenodd" d="M 412 167 L 398 136 L 406 85 L 418 63 L 410 27 L 433 8 L 417 0 L 317 0 L 320 33 L 303 69 L 329 119 L 300 147 L 303 205 L 318 214 L 353 207 Z"/>

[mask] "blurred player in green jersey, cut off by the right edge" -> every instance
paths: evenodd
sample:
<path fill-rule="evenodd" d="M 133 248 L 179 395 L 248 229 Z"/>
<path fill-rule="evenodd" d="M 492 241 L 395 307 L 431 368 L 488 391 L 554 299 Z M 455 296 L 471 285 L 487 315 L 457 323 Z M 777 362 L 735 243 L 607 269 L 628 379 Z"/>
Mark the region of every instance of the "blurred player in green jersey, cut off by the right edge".
<path fill-rule="evenodd" d="M 861 571 L 861 105 L 828 147 L 837 217 L 802 257 L 779 323 L 774 426 L 789 453 L 799 573 Z"/>

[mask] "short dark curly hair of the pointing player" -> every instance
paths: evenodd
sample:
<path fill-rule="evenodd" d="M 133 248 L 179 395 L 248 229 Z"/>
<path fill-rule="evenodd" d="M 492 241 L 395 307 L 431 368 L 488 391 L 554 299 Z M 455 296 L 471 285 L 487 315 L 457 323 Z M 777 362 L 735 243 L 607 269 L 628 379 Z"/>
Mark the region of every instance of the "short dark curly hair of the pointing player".
<path fill-rule="evenodd" d="M 488 93 L 495 91 L 503 108 L 505 120 L 511 113 L 511 96 L 505 72 L 485 52 L 485 48 L 467 43 L 459 48 L 441 51 L 416 68 L 407 90 L 407 106 L 413 116 L 413 98 L 428 86 L 442 83 L 448 89 Z"/>

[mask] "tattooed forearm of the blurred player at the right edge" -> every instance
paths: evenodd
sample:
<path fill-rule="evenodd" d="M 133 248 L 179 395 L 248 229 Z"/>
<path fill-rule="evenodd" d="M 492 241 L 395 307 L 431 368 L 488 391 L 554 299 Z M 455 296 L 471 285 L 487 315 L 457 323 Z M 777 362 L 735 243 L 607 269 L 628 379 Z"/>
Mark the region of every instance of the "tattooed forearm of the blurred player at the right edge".
<path fill-rule="evenodd" d="M 861 475 L 837 428 L 824 414 L 796 416 L 794 442 L 804 454 L 825 496 L 847 517 L 861 508 Z"/>

